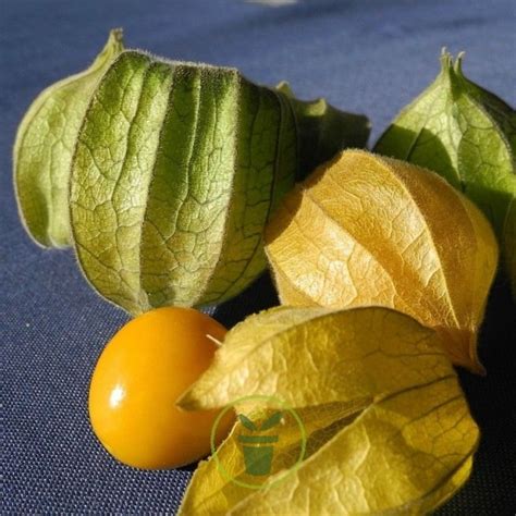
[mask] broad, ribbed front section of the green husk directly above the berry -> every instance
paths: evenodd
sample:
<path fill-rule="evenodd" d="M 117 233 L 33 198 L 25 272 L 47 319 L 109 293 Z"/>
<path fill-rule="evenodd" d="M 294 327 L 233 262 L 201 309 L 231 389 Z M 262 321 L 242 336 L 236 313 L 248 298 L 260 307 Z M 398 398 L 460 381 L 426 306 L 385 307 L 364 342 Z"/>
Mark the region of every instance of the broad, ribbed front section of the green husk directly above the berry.
<path fill-rule="evenodd" d="M 303 123 L 287 96 L 234 69 L 122 53 L 93 95 L 70 182 L 94 287 L 132 314 L 242 292 L 266 268 L 263 228 L 302 165 Z"/>

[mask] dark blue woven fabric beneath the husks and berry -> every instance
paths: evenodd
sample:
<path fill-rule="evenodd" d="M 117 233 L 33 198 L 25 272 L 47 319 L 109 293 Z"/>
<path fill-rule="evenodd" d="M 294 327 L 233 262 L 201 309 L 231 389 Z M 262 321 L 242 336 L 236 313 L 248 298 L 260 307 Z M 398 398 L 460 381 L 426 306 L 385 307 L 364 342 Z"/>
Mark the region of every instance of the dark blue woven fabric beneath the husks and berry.
<path fill-rule="evenodd" d="M 1 0 L 0 511 L 174 512 L 191 476 L 121 466 L 90 431 L 89 377 L 127 316 L 94 294 L 71 253 L 39 249 L 19 222 L 11 149 L 45 86 L 84 69 L 108 30 L 123 26 L 127 46 L 234 65 L 266 84 L 286 78 L 302 98 L 367 113 L 373 143 L 433 79 L 443 46 L 466 50 L 466 74 L 514 106 L 515 10 L 514 0 L 305 0 L 277 9 L 237 0 Z M 265 277 L 216 316 L 231 325 L 273 303 Z M 489 374 L 462 373 L 483 439 L 471 480 L 443 514 L 515 513 L 514 310 L 499 283 L 481 335 Z"/>

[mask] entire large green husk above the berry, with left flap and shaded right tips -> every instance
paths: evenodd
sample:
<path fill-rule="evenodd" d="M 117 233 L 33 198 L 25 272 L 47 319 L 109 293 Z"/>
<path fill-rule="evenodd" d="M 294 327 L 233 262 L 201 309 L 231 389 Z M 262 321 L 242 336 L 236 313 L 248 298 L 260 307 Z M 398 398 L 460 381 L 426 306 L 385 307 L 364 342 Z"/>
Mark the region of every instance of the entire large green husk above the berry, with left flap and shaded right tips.
<path fill-rule="evenodd" d="M 263 228 L 296 177 L 365 146 L 369 123 L 235 69 L 122 50 L 111 32 L 25 115 L 24 225 L 44 246 L 72 244 L 95 290 L 132 314 L 229 299 L 266 268 Z"/>

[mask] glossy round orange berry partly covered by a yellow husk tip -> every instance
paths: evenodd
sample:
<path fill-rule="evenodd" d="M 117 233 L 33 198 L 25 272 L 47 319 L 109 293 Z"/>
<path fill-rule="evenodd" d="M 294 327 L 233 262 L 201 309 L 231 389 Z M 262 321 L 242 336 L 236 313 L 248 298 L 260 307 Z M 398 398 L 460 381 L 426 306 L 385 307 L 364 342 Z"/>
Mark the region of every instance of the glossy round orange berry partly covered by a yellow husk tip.
<path fill-rule="evenodd" d="M 184 411 L 175 401 L 208 368 L 226 330 L 191 308 L 148 311 L 108 343 L 89 388 L 89 417 L 111 455 L 137 468 L 174 468 L 210 453 L 220 410 Z M 209 335 L 209 336 L 208 336 Z M 217 441 L 233 415 L 218 426 Z"/>

